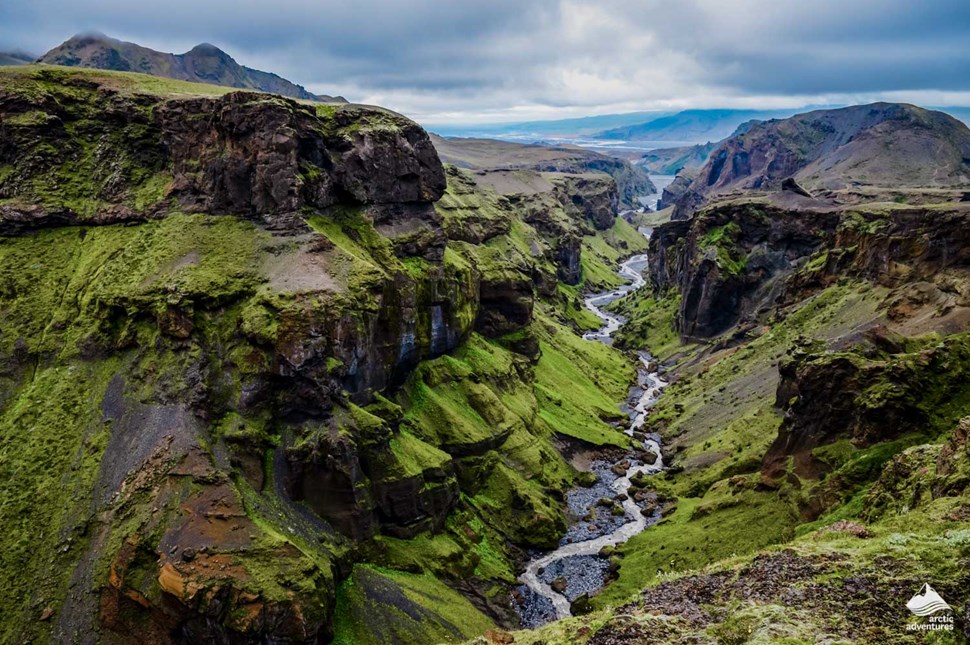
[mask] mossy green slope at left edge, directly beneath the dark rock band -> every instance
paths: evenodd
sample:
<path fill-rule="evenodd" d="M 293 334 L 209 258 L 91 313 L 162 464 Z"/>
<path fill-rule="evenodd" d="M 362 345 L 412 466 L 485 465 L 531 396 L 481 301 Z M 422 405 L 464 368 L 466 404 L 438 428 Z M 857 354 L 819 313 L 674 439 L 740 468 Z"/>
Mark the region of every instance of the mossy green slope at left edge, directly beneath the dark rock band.
<path fill-rule="evenodd" d="M 0 240 L 0 353 L 77 355 L 138 316 L 254 292 L 267 236 L 247 222 L 176 215 L 137 227 L 60 228 Z M 23 339 L 20 341 L 20 339 Z"/>

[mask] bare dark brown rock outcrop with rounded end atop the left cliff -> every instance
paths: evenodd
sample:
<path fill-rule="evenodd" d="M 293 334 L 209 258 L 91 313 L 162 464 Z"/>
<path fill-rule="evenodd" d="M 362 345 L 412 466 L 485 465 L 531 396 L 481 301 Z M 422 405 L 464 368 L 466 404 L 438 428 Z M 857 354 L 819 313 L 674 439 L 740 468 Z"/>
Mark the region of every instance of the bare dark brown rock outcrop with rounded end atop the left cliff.
<path fill-rule="evenodd" d="M 275 223 L 306 207 L 430 202 L 444 192 L 427 134 L 379 108 L 339 107 L 323 121 L 295 101 L 237 92 L 168 101 L 156 114 L 172 194 L 187 210 Z M 384 121 L 399 127 L 368 127 Z"/>

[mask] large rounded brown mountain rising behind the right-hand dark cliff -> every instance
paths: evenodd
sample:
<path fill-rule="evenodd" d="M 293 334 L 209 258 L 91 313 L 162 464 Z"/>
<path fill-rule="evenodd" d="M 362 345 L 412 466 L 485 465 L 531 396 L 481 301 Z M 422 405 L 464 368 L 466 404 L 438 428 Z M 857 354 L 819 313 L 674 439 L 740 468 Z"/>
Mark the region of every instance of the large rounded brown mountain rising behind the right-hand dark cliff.
<path fill-rule="evenodd" d="M 967 185 L 970 129 L 943 112 L 902 103 L 756 123 L 711 153 L 688 197 L 696 203 L 715 194 L 776 189 L 789 177 L 808 190 Z"/>

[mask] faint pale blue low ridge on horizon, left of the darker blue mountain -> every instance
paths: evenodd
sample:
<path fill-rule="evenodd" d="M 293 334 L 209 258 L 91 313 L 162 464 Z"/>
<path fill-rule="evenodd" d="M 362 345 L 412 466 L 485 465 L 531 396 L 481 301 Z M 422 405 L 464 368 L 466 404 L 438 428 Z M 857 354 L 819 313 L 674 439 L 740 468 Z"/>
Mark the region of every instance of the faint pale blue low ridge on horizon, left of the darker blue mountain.
<path fill-rule="evenodd" d="M 625 114 L 601 114 L 573 119 L 548 121 L 523 121 L 520 123 L 486 123 L 478 125 L 424 124 L 429 130 L 446 137 L 489 137 L 534 139 L 556 137 L 583 137 L 607 128 L 619 128 L 645 120 L 667 116 L 671 112 L 629 112 Z"/>

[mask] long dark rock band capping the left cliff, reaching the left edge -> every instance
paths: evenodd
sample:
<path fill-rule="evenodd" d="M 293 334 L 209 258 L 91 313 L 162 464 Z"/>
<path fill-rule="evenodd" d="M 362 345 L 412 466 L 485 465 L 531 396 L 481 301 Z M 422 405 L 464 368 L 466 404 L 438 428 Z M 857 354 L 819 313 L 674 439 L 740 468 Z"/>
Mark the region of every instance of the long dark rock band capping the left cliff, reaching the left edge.
<path fill-rule="evenodd" d="M 420 222 L 433 217 L 424 205 L 445 188 L 427 133 L 380 108 L 335 105 L 318 112 L 247 92 L 162 100 L 123 96 L 94 83 L 82 91 L 103 109 L 32 103 L 0 90 L 0 163 L 11 167 L 0 195 L 17 198 L 0 213 L 0 233 L 132 221 L 175 210 L 250 216 L 274 228 L 305 230 L 301 218 L 307 211 L 394 205 L 395 221 Z M 44 118 L 30 116 L 37 113 Z M 74 129 L 82 134 L 71 135 Z M 50 155 L 52 146 L 59 155 Z M 84 197 L 96 200 L 96 210 L 80 211 L 66 199 L 62 207 L 56 199 L 38 199 L 35 180 L 67 172 L 60 164 L 82 158 L 86 146 L 96 146 L 97 174 L 68 179 L 85 182 Z M 161 190 L 150 182 L 161 182 Z M 70 190 L 62 193 L 57 197 Z M 434 235 L 443 244 L 440 231 Z"/>

